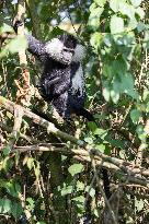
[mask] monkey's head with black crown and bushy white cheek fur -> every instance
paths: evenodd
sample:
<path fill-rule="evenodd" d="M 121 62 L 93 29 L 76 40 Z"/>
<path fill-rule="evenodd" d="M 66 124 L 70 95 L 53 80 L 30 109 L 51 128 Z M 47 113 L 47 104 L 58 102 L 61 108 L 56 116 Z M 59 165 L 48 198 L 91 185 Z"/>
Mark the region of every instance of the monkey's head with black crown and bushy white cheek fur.
<path fill-rule="evenodd" d="M 45 47 L 46 52 L 49 55 L 50 58 L 64 64 L 69 64 L 71 63 L 73 58 L 76 59 L 76 52 L 77 55 L 79 54 L 78 49 L 80 48 L 78 48 L 78 46 L 81 45 L 78 44 L 78 40 L 73 36 L 64 34 L 58 36 L 57 38 L 53 38 L 50 42 L 46 44 Z"/>

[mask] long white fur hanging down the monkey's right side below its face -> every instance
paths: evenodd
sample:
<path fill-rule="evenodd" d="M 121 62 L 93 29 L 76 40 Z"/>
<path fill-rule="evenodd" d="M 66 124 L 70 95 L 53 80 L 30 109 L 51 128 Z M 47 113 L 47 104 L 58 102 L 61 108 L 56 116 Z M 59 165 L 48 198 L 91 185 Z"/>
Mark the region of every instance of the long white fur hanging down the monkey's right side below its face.
<path fill-rule="evenodd" d="M 72 93 L 74 94 L 78 91 L 80 92 L 80 95 L 84 94 L 84 76 L 81 63 L 74 76 L 72 78 Z"/>

